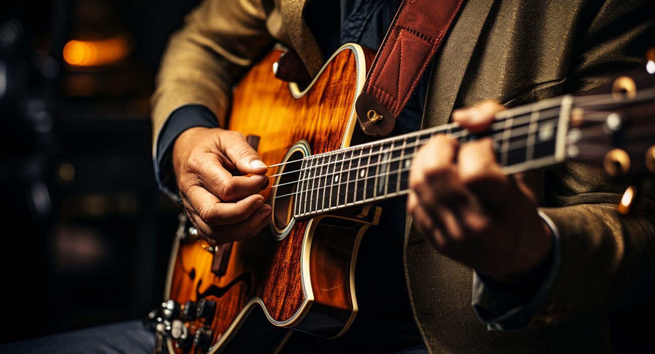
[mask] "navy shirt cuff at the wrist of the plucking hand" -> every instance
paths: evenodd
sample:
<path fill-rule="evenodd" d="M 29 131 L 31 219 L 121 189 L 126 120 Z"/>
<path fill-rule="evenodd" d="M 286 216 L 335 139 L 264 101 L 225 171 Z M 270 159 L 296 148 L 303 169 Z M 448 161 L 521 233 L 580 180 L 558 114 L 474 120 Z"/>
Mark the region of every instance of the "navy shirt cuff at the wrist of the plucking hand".
<path fill-rule="evenodd" d="M 172 164 L 173 145 L 179 134 L 194 127 L 217 128 L 219 124 L 214 113 L 205 106 L 188 104 L 170 113 L 155 142 L 153 164 L 157 185 L 174 201 L 180 201 L 180 197 Z"/>

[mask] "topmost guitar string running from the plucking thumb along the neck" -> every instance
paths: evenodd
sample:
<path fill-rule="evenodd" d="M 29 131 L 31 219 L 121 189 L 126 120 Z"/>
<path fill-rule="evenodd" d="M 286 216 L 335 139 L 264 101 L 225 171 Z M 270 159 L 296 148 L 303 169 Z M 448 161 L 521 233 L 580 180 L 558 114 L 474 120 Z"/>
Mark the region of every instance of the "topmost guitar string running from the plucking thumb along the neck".
<path fill-rule="evenodd" d="M 560 106 L 555 106 L 555 107 L 552 107 L 552 108 L 543 109 L 541 111 L 533 112 L 533 113 L 542 113 L 543 111 L 550 111 L 550 110 L 553 110 L 553 109 L 557 109 L 557 111 L 559 112 L 560 108 L 561 108 Z M 548 121 L 550 119 L 559 118 L 559 113 L 558 113 L 556 115 L 546 116 L 546 117 L 541 117 L 541 115 L 540 115 L 540 117 L 538 117 L 538 119 L 536 121 L 531 121 L 531 119 L 532 119 L 531 116 L 533 115 L 533 113 L 525 113 L 525 114 L 522 114 L 522 115 L 517 115 L 516 117 L 504 117 L 504 118 L 502 118 L 502 120 L 496 120 L 495 123 L 492 123 L 491 126 L 490 126 L 490 128 L 492 128 L 491 133 L 506 131 L 507 130 L 506 127 L 498 128 L 496 130 L 493 130 L 493 127 L 498 126 L 498 125 L 505 125 L 506 120 L 510 119 L 510 118 L 512 118 L 514 120 L 514 122 L 518 122 L 518 123 L 513 123 L 512 127 L 510 127 L 510 131 L 512 130 L 512 128 L 516 128 L 516 127 L 519 127 L 521 125 L 542 123 L 543 121 Z M 462 130 L 459 130 L 459 131 L 451 133 L 451 134 L 458 134 L 458 133 L 461 132 L 462 134 L 464 134 L 463 136 L 471 135 L 470 132 L 468 132 L 468 130 L 460 127 L 457 123 L 450 123 L 450 124 L 444 125 L 442 127 L 434 127 L 434 128 L 419 130 L 417 132 L 412 132 L 412 133 L 409 133 L 407 136 L 405 136 L 405 138 L 409 138 L 409 137 L 413 137 L 413 136 L 420 136 L 422 134 L 432 134 L 432 133 L 435 133 L 435 132 L 436 133 L 445 132 L 445 134 L 448 134 L 447 130 L 453 129 L 453 128 L 455 128 L 455 129 L 461 128 Z M 401 137 L 395 136 L 395 137 L 392 137 L 392 138 L 388 138 L 386 140 L 388 140 L 388 142 L 396 142 L 396 141 L 402 140 L 402 139 L 403 139 L 402 136 Z M 354 149 L 356 149 L 358 147 L 375 146 L 376 144 L 384 144 L 385 142 L 386 141 L 376 141 L 376 142 L 369 142 L 369 143 L 366 143 L 366 144 L 360 144 L 360 145 L 357 145 L 357 146 L 345 147 L 344 149 L 329 151 L 327 153 L 320 153 L 320 154 L 317 154 L 317 155 L 310 155 L 310 156 L 303 157 L 302 159 L 287 161 L 285 163 L 278 163 L 278 164 L 275 164 L 275 165 L 271 165 L 268 168 L 279 167 L 279 166 L 282 166 L 282 165 L 288 165 L 290 163 L 297 163 L 299 161 L 305 161 L 307 159 L 310 159 L 310 158 L 316 157 L 316 156 L 320 156 L 320 155 L 329 155 L 331 153 L 340 153 L 340 152 L 345 153 L 346 151 L 352 151 L 352 150 L 354 150 Z M 293 172 L 297 172 L 297 171 L 298 170 L 286 171 L 286 172 L 282 172 L 282 174 L 293 173 Z M 272 176 L 269 176 L 269 178 L 280 176 L 280 175 L 281 174 L 274 174 Z"/>

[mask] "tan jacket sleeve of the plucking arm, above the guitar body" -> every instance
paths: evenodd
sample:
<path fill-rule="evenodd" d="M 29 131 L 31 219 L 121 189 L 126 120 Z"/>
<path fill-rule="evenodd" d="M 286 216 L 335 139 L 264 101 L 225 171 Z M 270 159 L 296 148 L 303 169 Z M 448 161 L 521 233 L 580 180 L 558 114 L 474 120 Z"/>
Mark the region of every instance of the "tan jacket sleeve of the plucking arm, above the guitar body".
<path fill-rule="evenodd" d="M 231 87 L 271 46 L 268 28 L 280 26 L 274 10 L 267 0 L 205 0 L 187 15 L 169 39 L 157 75 L 153 150 L 166 119 L 181 106 L 205 106 L 225 127 Z"/>

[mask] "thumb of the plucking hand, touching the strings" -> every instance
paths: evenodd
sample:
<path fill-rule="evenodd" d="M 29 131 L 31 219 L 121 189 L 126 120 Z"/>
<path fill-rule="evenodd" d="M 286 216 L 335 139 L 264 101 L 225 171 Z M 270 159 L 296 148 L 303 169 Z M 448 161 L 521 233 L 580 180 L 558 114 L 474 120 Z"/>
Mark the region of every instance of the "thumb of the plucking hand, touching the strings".
<path fill-rule="evenodd" d="M 268 170 L 261 157 L 253 149 L 240 132 L 227 132 L 219 140 L 221 151 L 225 151 L 227 158 L 244 174 L 265 174 Z"/>

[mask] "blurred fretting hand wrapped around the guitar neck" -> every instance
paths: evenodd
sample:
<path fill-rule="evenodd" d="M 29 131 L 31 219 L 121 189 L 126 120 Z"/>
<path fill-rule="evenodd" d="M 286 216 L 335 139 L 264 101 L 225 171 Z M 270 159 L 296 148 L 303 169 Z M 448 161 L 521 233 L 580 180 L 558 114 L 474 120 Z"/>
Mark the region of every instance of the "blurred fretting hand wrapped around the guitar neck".
<path fill-rule="evenodd" d="M 486 130 L 504 108 L 485 102 L 453 112 L 472 132 Z M 445 135 L 421 147 L 409 175 L 407 210 L 432 245 L 499 281 L 522 280 L 552 250 L 523 175 L 505 176 L 491 138 L 458 144 Z"/>

